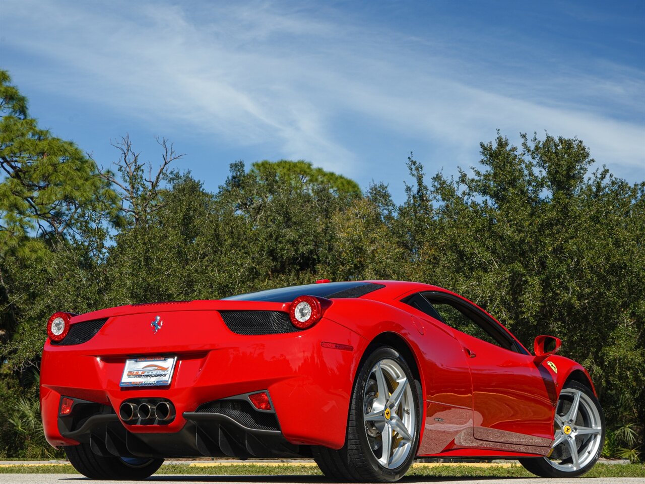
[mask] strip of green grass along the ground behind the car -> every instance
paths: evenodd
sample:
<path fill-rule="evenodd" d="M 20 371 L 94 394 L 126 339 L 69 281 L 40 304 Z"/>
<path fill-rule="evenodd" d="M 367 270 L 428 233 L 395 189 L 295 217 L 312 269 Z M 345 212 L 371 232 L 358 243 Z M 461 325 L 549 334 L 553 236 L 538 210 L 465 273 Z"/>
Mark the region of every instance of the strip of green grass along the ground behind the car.
<path fill-rule="evenodd" d="M 10 465 L 0 467 L 0 474 L 78 474 L 69 464 L 55 465 Z M 157 475 L 195 475 L 195 476 L 320 476 L 322 473 L 315 465 L 284 464 L 232 464 L 232 465 L 163 465 Z M 511 467 L 474 467 L 470 465 L 437 465 L 434 467 L 413 466 L 406 474 L 417 477 L 515 477 L 534 478 L 521 465 Z M 645 478 L 645 465 L 596 464 L 584 475 L 586 478 Z"/>

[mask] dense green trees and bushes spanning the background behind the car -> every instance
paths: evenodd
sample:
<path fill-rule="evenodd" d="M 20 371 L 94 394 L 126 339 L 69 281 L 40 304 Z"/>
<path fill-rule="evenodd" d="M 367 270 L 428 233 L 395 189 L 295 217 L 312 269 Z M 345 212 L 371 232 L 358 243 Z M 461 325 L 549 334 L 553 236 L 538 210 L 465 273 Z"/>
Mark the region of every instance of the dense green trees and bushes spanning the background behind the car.
<path fill-rule="evenodd" d="M 28 368 L 39 364 L 55 310 L 217 298 L 321 277 L 407 279 L 463 294 L 529 348 L 537 334 L 562 338 L 562 354 L 597 385 L 606 452 L 637 459 L 645 183 L 590 173 L 582 141 L 547 134 L 513 146 L 498 136 L 481 145 L 477 167 L 450 179 L 428 179 L 411 156 L 401 205 L 385 185 L 362 192 L 304 161 L 232 163 L 210 193 L 190 172 L 170 171 L 181 155 L 166 140 L 153 176 L 128 138 L 115 145 L 109 172 L 33 119 L 28 130 L 15 128 L 30 118 L 3 76 L 3 106 L 12 107 L 0 136 L 0 421 L 17 421 L 10 409 L 34 399 Z M 21 429 L 0 426 L 0 454 L 28 452 Z"/>

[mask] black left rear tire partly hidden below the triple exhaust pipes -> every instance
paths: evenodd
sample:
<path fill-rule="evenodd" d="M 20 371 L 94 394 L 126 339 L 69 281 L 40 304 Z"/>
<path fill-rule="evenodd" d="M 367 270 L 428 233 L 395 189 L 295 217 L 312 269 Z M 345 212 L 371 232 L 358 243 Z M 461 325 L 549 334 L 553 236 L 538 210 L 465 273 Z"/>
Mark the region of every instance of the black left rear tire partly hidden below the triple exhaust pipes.
<path fill-rule="evenodd" d="M 152 476 L 164 459 L 132 459 L 130 463 L 120 457 L 103 457 L 92 452 L 89 444 L 68 445 L 65 454 L 74 469 L 90 479 L 135 481 Z M 139 462 L 135 462 L 139 460 Z"/>

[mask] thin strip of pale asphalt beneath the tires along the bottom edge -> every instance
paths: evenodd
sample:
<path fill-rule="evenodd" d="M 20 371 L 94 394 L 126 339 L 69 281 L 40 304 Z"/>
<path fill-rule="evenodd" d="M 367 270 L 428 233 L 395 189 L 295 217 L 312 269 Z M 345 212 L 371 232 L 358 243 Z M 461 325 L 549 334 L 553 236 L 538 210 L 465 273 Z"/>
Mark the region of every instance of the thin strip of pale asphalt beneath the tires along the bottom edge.
<path fill-rule="evenodd" d="M 3 484 L 123 484 L 141 481 L 90 481 L 74 474 L 0 474 Z M 217 483 L 217 484 L 327 484 L 321 476 L 152 476 L 144 482 L 160 484 Z M 432 484 L 645 484 L 645 478 L 404 478 L 401 483 Z"/>

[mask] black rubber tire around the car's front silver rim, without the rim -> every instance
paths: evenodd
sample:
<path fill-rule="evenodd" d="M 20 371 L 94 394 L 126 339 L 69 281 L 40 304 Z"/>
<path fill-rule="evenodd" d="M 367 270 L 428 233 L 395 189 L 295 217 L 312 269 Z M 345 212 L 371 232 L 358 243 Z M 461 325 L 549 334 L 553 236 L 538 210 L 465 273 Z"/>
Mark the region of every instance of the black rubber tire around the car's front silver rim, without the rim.
<path fill-rule="evenodd" d="M 593 467 L 593 465 L 596 463 L 598 458 L 600 457 L 600 453 L 602 452 L 602 445 L 604 443 L 604 437 L 605 437 L 605 422 L 604 422 L 604 415 L 602 414 L 602 408 L 600 407 L 600 403 L 598 399 L 595 397 L 593 392 L 590 390 L 589 387 L 586 385 L 582 385 L 582 383 L 579 383 L 577 381 L 570 381 L 562 387 L 562 392 L 566 390 L 567 388 L 570 388 L 571 390 L 578 390 L 579 392 L 583 393 L 588 397 L 586 401 L 590 403 L 591 405 L 595 406 L 595 410 L 598 412 L 598 420 L 600 423 L 600 444 L 597 446 L 597 450 L 593 452 L 593 456 L 582 465 L 580 469 L 576 470 L 561 470 L 557 469 L 556 467 L 553 467 L 549 463 L 550 459 L 546 457 L 541 457 L 541 458 L 522 458 L 519 459 L 520 463 L 522 466 L 524 466 L 524 469 L 528 470 L 529 472 L 532 472 L 536 476 L 540 476 L 542 478 L 574 478 L 577 476 L 582 476 L 585 472 L 588 472 L 588 470 Z M 560 400 L 559 403 L 556 407 L 556 411 L 560 407 Z M 573 427 L 575 423 L 571 423 L 571 427 Z M 571 432 L 571 430 L 569 430 Z M 575 438 L 574 438 L 575 441 Z M 575 441 L 577 443 L 577 441 Z M 581 444 L 581 447 L 584 445 L 589 445 L 585 444 L 584 441 Z M 554 447 L 555 449 L 555 447 Z M 571 459 L 564 459 L 562 463 L 568 463 Z"/>

